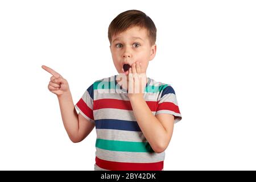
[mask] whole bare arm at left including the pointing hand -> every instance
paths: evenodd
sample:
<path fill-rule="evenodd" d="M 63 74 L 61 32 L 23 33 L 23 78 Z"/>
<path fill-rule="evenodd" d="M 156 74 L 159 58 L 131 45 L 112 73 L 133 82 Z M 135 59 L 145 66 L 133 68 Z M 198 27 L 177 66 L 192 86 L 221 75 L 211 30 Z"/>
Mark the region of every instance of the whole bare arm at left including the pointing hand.
<path fill-rule="evenodd" d="M 92 131 L 94 124 L 84 118 L 81 114 L 77 115 L 73 104 L 72 95 L 69 90 L 68 81 L 53 69 L 42 66 L 44 70 L 52 74 L 49 81 L 48 89 L 56 94 L 60 112 L 65 130 L 72 142 L 80 142 Z"/>

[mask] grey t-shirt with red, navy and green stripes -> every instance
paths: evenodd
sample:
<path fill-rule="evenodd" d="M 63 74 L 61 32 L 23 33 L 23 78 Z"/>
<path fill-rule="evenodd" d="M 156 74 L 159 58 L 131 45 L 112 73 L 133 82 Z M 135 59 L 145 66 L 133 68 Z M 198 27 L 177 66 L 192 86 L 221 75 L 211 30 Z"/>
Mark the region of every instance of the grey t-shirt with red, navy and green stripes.
<path fill-rule="evenodd" d="M 133 114 L 127 90 L 117 75 L 95 81 L 75 105 L 96 126 L 95 170 L 162 170 L 164 152 L 156 153 L 144 137 Z M 171 85 L 148 78 L 144 100 L 152 114 L 172 114 L 181 120 Z"/>

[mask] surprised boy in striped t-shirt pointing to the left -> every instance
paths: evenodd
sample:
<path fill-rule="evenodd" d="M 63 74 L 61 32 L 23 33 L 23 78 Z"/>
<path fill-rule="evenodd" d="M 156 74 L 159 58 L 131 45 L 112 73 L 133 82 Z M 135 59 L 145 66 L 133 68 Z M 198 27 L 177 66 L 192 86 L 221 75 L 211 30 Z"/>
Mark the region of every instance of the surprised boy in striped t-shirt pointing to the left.
<path fill-rule="evenodd" d="M 108 36 L 119 75 L 95 81 L 74 106 L 67 80 L 43 65 L 52 74 L 48 89 L 57 95 L 72 142 L 96 126 L 95 170 L 163 170 L 181 114 L 174 89 L 146 77 L 156 54 L 155 24 L 142 11 L 125 11 L 110 23 Z"/>

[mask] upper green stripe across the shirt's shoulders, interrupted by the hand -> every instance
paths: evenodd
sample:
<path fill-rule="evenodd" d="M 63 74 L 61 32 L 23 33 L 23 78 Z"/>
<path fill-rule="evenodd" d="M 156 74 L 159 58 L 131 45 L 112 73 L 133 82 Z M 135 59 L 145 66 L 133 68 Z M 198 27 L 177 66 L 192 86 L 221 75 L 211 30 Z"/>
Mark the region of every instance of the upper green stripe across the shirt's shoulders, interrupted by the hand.
<path fill-rule="evenodd" d="M 158 93 L 161 92 L 163 89 L 165 89 L 168 85 L 160 85 L 160 86 L 154 86 L 154 85 L 148 85 L 144 89 L 144 92 L 147 93 Z M 115 89 L 115 82 L 114 81 L 96 81 L 93 84 L 93 90 L 97 89 Z"/>

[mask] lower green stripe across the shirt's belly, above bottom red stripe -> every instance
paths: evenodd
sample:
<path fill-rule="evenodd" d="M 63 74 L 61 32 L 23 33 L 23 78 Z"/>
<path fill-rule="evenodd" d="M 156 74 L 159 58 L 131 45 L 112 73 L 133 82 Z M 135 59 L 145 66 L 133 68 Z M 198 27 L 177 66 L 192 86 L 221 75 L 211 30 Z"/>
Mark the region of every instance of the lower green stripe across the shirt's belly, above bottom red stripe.
<path fill-rule="evenodd" d="M 154 152 L 148 142 L 123 142 L 117 140 L 97 139 L 96 147 L 121 152 Z"/>

